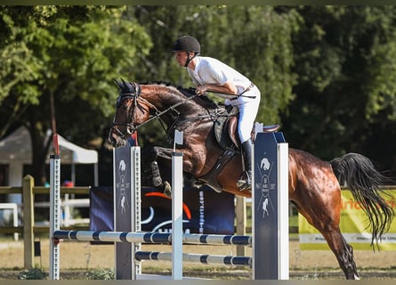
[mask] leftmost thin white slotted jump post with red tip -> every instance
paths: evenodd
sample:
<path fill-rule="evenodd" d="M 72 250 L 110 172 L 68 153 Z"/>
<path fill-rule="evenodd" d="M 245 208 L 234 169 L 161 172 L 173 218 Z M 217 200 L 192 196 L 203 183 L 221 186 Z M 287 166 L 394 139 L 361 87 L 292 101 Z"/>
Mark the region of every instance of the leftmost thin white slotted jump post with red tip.
<path fill-rule="evenodd" d="M 50 272 L 51 280 L 60 278 L 60 245 L 53 238 L 53 232 L 61 227 L 61 156 L 59 155 L 58 134 L 53 135 L 55 155 L 50 156 Z"/>

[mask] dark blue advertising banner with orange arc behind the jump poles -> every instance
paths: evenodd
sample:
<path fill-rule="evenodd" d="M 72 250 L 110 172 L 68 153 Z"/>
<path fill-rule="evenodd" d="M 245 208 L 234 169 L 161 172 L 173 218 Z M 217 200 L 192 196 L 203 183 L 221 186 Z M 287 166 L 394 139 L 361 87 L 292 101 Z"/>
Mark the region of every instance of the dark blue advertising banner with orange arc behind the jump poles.
<path fill-rule="evenodd" d="M 183 193 L 183 231 L 190 233 L 233 234 L 234 195 L 217 193 L 207 187 Z M 90 191 L 90 230 L 113 231 L 113 189 L 93 187 Z M 172 200 L 162 192 L 141 187 L 141 230 L 170 232 Z"/>

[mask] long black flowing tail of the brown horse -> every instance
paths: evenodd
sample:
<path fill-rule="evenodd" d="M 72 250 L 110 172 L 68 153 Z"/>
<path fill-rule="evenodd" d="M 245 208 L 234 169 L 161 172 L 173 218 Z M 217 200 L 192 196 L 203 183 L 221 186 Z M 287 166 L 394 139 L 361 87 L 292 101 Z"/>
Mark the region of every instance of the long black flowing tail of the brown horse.
<path fill-rule="evenodd" d="M 330 161 L 335 176 L 341 184 L 346 184 L 354 199 L 368 215 L 372 228 L 371 246 L 378 246 L 384 232 L 389 230 L 393 218 L 393 209 L 380 195 L 381 185 L 386 177 L 380 174 L 373 163 L 358 153 L 347 153 L 341 158 Z"/>

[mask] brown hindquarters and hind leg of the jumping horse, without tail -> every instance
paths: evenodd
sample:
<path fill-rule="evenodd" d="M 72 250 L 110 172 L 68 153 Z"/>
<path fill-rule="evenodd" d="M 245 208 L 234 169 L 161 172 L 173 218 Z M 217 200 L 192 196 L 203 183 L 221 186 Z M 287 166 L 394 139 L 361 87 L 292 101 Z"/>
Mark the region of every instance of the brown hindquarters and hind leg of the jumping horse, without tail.
<path fill-rule="evenodd" d="M 327 240 L 345 277 L 359 279 L 352 247 L 340 231 L 341 189 L 331 166 L 303 151 L 289 154 L 289 199 Z"/>

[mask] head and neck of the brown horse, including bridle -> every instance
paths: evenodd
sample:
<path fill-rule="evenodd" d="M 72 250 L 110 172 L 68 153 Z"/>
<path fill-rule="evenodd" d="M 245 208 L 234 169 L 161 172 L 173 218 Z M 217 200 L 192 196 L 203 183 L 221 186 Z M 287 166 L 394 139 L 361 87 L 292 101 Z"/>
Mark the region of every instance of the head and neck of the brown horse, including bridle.
<path fill-rule="evenodd" d="M 109 132 L 109 142 L 113 147 L 125 146 L 130 134 L 158 118 L 167 127 L 175 127 L 181 121 L 201 123 L 204 118 L 212 123 L 213 115 L 203 114 L 216 109 L 214 102 L 197 97 L 197 94 L 191 94 L 187 89 L 164 84 L 139 85 L 124 80 L 115 82 L 121 91 Z"/>

